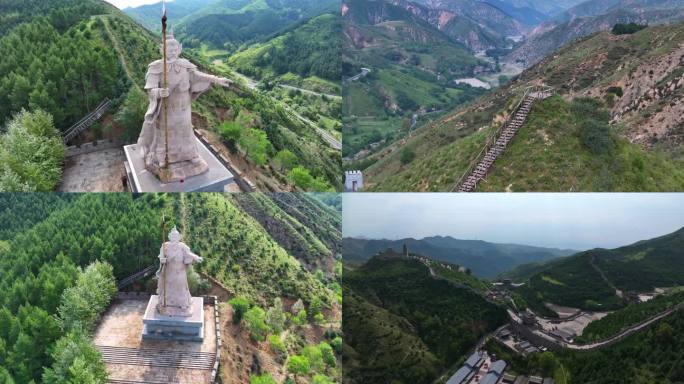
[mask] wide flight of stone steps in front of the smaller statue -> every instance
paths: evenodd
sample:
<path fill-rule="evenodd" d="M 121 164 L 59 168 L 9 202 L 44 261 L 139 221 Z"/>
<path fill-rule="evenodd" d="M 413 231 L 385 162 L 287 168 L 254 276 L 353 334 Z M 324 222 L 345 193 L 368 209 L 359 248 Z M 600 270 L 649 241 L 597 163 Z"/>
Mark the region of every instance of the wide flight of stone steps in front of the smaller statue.
<path fill-rule="evenodd" d="M 125 348 L 98 345 L 107 364 L 212 370 L 216 354 L 156 348 Z"/>

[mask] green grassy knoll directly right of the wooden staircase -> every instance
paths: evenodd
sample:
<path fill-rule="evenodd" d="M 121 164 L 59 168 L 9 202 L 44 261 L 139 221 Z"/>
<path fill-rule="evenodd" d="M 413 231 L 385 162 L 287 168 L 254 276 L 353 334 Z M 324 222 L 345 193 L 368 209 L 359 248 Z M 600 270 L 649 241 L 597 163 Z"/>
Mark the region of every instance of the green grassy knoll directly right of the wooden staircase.
<path fill-rule="evenodd" d="M 675 191 L 684 185 L 678 162 L 639 148 L 611 129 L 593 134 L 593 127 L 578 100 L 555 96 L 538 103 L 478 190 Z M 601 139 L 607 144 L 596 148 Z"/>

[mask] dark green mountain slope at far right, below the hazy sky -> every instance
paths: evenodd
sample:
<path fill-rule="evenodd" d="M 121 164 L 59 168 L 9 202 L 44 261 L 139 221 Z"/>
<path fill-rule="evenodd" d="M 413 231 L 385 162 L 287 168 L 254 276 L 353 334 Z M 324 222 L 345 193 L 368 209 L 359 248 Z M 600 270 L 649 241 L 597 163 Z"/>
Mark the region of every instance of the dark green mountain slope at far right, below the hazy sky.
<path fill-rule="evenodd" d="M 624 305 L 630 292 L 684 284 L 684 228 L 616 249 L 594 249 L 537 267 L 521 289 L 535 309 L 543 303 L 589 310 Z"/>

